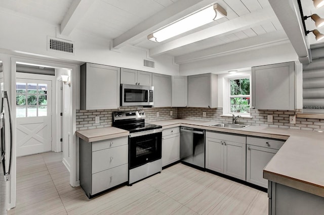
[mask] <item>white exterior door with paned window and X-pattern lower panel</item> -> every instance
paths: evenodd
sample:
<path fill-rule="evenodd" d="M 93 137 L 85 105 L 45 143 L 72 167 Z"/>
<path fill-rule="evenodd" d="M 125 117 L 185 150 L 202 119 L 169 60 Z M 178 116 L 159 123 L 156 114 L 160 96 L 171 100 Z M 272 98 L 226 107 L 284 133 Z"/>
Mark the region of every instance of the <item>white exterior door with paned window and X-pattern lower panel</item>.
<path fill-rule="evenodd" d="M 16 79 L 17 156 L 52 149 L 52 81 Z"/>

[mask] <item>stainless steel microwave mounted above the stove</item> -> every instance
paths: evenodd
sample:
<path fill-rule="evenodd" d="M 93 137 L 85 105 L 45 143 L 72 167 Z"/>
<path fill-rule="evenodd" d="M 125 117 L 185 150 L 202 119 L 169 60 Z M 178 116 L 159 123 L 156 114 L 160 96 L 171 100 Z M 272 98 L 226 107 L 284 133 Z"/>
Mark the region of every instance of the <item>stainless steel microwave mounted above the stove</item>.
<path fill-rule="evenodd" d="M 154 87 L 120 84 L 121 106 L 150 106 L 154 105 Z"/>

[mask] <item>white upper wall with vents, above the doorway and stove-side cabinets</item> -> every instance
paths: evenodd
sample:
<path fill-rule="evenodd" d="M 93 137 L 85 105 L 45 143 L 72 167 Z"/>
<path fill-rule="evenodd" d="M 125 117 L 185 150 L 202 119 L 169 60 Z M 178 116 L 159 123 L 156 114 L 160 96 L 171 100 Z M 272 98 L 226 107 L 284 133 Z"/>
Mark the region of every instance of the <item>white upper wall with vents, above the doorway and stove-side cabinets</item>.
<path fill-rule="evenodd" d="M 48 51 L 47 37 L 55 37 L 58 26 L 4 12 L 0 12 L 0 20 L 2 20 L 0 48 L 37 56 L 179 75 L 179 66 L 173 63 L 173 58 L 170 56 L 149 59 L 155 61 L 155 69 L 146 68 L 143 67 L 143 59 L 148 59 L 146 49 L 129 46 L 109 50 L 110 40 L 82 34 L 77 30 L 69 37 L 74 42 L 75 55 Z"/>

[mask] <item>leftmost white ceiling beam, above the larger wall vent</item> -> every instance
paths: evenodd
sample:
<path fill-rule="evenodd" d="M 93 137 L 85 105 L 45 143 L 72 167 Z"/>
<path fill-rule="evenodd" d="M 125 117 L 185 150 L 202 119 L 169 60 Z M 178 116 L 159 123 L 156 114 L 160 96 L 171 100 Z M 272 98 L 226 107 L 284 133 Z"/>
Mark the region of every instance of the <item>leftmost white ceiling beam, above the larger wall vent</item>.
<path fill-rule="evenodd" d="M 70 35 L 77 23 L 81 20 L 94 2 L 94 0 L 73 0 L 69 10 L 61 22 L 61 34 L 65 36 Z"/>

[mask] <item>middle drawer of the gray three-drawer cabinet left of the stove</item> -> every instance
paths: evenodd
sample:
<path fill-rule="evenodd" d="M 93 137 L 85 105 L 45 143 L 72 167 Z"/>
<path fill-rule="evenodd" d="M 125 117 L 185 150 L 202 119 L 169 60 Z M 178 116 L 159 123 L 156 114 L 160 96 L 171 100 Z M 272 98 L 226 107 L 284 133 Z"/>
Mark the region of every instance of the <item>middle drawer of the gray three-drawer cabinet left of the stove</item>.
<path fill-rule="evenodd" d="M 128 145 L 92 152 L 92 174 L 128 163 Z"/>

